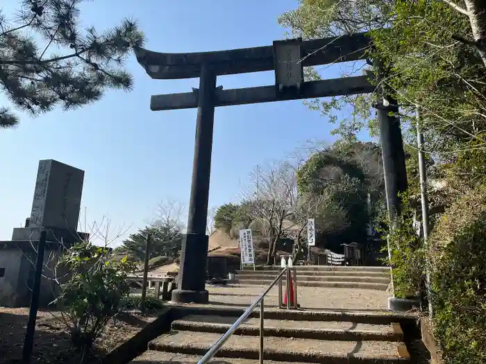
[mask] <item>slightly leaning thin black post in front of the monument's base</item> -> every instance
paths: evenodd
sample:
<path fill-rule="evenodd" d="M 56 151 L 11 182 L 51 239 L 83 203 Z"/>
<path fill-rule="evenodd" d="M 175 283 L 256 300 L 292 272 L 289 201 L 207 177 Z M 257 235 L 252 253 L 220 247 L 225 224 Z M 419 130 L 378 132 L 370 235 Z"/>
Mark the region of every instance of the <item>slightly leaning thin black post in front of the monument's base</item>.
<path fill-rule="evenodd" d="M 40 240 L 37 245 L 37 260 L 35 261 L 34 283 L 32 287 L 31 309 L 28 312 L 27 329 L 22 352 L 22 363 L 31 363 L 32 347 L 34 343 L 35 320 L 39 308 L 40 280 L 42 279 L 42 266 L 44 264 L 44 249 L 46 247 L 46 232 L 40 232 Z"/>

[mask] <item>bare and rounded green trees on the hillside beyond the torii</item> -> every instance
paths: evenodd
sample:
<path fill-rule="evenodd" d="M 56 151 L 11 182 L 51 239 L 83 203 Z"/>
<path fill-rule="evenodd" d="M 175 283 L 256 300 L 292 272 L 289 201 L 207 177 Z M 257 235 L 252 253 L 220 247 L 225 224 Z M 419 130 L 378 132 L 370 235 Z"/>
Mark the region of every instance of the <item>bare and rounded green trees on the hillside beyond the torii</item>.
<path fill-rule="evenodd" d="M 232 237 L 239 229 L 253 229 L 270 264 L 287 243 L 294 256 L 306 259 L 307 221 L 315 218 L 317 245 L 342 252 L 342 243 L 364 243 L 370 220 L 382 214 L 382 169 L 378 145 L 360 141 L 340 141 L 258 166 L 242 202 L 217 209 L 215 227 Z"/>

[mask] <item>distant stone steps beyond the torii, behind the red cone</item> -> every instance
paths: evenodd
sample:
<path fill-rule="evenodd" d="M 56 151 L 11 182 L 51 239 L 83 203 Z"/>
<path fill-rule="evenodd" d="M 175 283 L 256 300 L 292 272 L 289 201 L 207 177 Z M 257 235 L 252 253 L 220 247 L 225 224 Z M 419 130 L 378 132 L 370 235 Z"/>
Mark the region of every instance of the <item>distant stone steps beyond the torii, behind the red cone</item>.
<path fill-rule="evenodd" d="M 364 288 L 386 291 L 390 283 L 387 267 L 298 266 L 297 284 L 308 287 Z M 234 283 L 267 285 L 278 275 L 278 267 L 238 270 Z M 284 280 L 285 281 L 285 280 Z"/>

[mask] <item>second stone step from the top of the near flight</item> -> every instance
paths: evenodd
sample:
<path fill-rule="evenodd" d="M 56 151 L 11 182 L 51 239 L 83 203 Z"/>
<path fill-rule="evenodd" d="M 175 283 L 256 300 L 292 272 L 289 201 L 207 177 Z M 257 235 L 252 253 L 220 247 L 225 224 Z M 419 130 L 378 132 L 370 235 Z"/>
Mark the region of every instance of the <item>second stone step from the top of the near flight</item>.
<path fill-rule="evenodd" d="M 219 315 L 189 315 L 172 322 L 172 329 L 226 333 L 237 318 Z M 264 320 L 265 336 L 307 338 L 317 340 L 375 340 L 402 341 L 399 324 L 362 324 L 356 322 L 319 322 L 305 320 Z M 260 318 L 248 318 L 235 331 L 237 335 L 260 335 Z"/>

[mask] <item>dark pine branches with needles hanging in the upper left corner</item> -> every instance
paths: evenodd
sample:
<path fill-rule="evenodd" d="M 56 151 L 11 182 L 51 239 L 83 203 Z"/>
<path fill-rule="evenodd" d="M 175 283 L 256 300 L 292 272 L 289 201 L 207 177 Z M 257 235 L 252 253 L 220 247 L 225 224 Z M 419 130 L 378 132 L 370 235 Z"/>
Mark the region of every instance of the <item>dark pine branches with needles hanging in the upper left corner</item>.
<path fill-rule="evenodd" d="M 36 115 L 99 101 L 107 88 L 131 89 L 122 69 L 126 56 L 142 46 L 135 21 L 99 32 L 78 28 L 83 0 L 21 0 L 12 19 L 0 12 L 0 85 L 20 110 Z M 18 117 L 0 107 L 0 127 Z"/>

